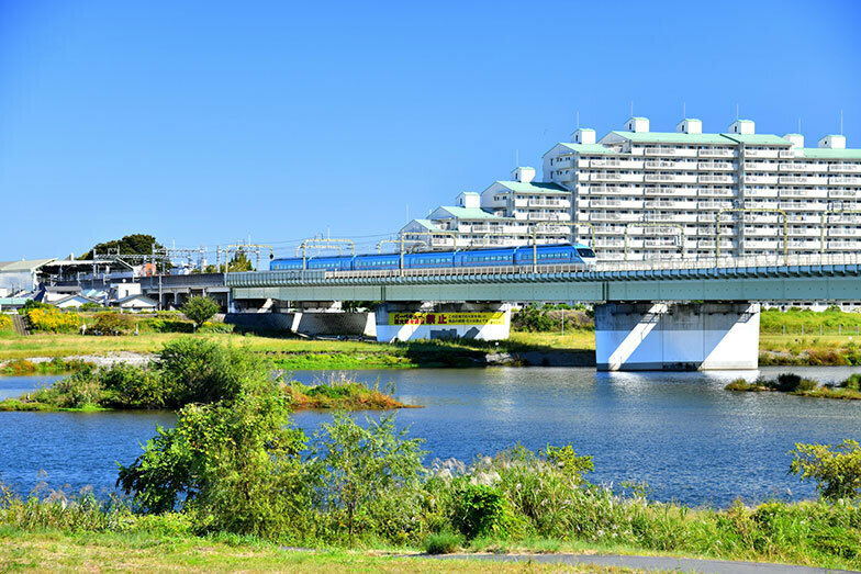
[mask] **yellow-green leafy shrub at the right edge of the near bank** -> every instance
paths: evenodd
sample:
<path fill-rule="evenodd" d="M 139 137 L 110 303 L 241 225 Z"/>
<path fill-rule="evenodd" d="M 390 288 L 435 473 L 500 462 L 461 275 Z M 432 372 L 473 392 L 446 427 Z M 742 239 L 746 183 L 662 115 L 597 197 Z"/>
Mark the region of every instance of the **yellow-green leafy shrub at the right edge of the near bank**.
<path fill-rule="evenodd" d="M 800 474 L 802 481 L 816 481 L 823 498 L 861 495 L 861 446 L 857 441 L 846 439 L 836 447 L 796 443 L 790 454 L 794 457 L 790 473 Z"/>

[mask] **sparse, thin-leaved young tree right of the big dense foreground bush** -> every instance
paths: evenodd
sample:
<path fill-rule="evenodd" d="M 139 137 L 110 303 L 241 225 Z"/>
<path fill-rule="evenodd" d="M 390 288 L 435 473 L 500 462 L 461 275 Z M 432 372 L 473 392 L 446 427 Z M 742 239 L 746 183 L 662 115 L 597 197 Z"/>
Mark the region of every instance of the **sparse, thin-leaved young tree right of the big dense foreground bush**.
<path fill-rule="evenodd" d="M 392 416 L 368 418 L 361 427 L 343 413 L 314 435 L 312 460 L 320 465 L 323 483 L 320 503 L 344 517 L 350 545 L 358 515 L 370 514 L 369 507 L 388 491 L 417 488 L 421 483 L 422 441 L 405 435 L 395 430 Z M 401 497 L 402 503 L 406 499 Z"/>

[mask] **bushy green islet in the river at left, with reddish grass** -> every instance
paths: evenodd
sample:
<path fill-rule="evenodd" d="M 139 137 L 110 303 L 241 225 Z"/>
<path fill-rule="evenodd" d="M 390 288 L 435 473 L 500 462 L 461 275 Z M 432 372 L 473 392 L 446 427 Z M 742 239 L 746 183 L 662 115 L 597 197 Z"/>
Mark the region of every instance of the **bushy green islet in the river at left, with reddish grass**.
<path fill-rule="evenodd" d="M 11 364 L 21 367 L 22 362 L 26 361 Z M 58 359 L 40 365 L 53 363 L 65 369 L 71 367 L 74 371 L 51 386 L 20 398 L 0 401 L 0 410 L 179 409 L 231 396 L 246 384 L 247 378 L 272 369 L 271 363 L 245 348 L 193 337 L 166 344 L 148 368 L 114 363 L 96 369 L 81 361 L 70 365 Z M 407 406 L 391 396 L 393 389 L 382 392 L 379 383 L 377 387 L 368 387 L 345 376 L 333 376 L 313 386 L 278 376 L 272 385 L 295 409 Z"/>

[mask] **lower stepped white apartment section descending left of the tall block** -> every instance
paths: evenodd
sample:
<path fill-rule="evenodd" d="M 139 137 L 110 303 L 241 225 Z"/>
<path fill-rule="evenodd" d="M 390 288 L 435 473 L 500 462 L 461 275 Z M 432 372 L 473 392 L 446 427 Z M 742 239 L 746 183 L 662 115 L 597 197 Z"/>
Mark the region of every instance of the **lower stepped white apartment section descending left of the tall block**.
<path fill-rule="evenodd" d="M 415 249 L 510 247 L 555 244 L 571 235 L 571 192 L 535 182 L 535 168 L 518 167 L 511 181 L 494 181 L 483 192 L 463 192 L 457 205 L 443 205 L 413 220 L 401 234 Z"/>

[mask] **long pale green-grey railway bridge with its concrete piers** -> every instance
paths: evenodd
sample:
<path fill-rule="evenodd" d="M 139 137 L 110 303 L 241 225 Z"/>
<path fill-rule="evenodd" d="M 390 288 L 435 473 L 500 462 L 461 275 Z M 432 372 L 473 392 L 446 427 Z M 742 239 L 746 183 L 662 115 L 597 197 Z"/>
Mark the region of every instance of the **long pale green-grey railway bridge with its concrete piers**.
<path fill-rule="evenodd" d="M 760 302 L 861 301 L 861 258 L 258 271 L 227 273 L 225 283 L 239 303 L 380 302 L 380 340 L 501 338 L 511 302 L 589 302 L 600 370 L 753 369 Z"/>

